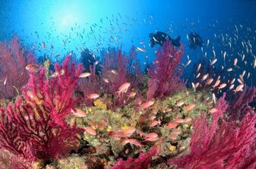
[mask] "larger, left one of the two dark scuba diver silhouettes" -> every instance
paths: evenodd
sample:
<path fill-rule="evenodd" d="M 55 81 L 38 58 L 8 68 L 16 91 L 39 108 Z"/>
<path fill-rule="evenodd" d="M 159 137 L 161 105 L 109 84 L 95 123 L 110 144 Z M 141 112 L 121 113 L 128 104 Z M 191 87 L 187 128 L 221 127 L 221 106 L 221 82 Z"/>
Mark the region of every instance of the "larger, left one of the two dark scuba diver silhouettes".
<path fill-rule="evenodd" d="M 163 45 L 167 39 L 172 42 L 172 45 L 180 47 L 181 43 L 179 41 L 181 40 L 181 36 L 178 36 L 177 39 L 172 39 L 169 35 L 160 31 L 157 31 L 156 33 L 150 33 L 150 47 L 153 48 L 156 43 Z"/>

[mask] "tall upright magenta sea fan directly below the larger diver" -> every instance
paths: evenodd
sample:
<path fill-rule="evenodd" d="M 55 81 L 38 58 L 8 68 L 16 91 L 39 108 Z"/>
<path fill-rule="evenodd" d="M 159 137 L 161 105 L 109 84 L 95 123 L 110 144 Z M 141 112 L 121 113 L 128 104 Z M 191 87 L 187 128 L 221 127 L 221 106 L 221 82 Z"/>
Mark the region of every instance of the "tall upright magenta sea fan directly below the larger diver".
<path fill-rule="evenodd" d="M 156 61 L 147 72 L 150 77 L 147 83 L 147 99 L 172 95 L 175 90 L 184 86 L 180 79 L 182 67 L 179 67 L 182 55 L 182 47 L 176 49 L 171 42 L 165 42 L 163 47 L 157 50 Z"/>

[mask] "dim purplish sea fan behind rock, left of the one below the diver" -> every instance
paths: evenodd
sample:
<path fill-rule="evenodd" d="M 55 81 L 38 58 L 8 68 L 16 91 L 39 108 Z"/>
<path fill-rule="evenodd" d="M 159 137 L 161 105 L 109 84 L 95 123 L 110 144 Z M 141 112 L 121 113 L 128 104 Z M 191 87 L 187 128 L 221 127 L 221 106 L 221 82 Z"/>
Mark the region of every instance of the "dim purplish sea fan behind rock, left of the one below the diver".
<path fill-rule="evenodd" d="M 141 68 L 135 61 L 137 54 L 135 47 L 131 48 L 129 55 L 125 55 L 121 49 L 109 49 L 103 58 L 103 92 L 111 94 L 112 102 L 108 107 L 115 109 L 128 101 L 128 92 L 137 89 L 141 83 Z M 106 83 L 107 80 L 107 83 Z M 131 83 L 126 93 L 118 94 L 119 87 L 124 83 Z"/>

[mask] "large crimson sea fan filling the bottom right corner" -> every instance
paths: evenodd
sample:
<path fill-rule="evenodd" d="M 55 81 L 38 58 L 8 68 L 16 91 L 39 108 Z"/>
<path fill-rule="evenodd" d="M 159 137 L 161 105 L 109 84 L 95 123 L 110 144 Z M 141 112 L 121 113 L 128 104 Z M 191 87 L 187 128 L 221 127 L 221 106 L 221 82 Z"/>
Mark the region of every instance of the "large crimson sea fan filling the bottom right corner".
<path fill-rule="evenodd" d="M 220 118 L 228 108 L 224 97 L 216 104 L 218 111 L 213 114 L 210 125 L 207 125 L 205 114 L 194 120 L 190 154 L 169 159 L 169 164 L 182 168 L 231 169 L 256 166 L 256 114 L 252 108 L 248 109 L 239 124 Z"/>

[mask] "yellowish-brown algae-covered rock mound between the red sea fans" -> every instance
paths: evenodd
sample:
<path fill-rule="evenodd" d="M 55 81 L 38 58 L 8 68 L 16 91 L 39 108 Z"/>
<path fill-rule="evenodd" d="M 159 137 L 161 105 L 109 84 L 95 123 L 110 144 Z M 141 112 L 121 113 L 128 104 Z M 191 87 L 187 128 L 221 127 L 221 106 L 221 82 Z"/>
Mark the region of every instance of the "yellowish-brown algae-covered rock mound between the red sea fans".
<path fill-rule="evenodd" d="M 112 111 L 107 109 L 102 100 L 97 99 L 93 103 L 94 106 L 81 108 L 86 112 L 86 117 L 77 118 L 79 126 L 91 127 L 96 133 L 84 131 L 81 134 L 81 139 L 85 142 L 81 147 L 87 148 L 84 151 L 84 156 L 79 157 L 82 158 L 80 161 L 87 163 L 93 160 L 95 163 L 103 164 L 104 167 L 110 167 L 115 164 L 117 158 L 137 157 L 141 151 L 148 150 L 154 145 L 159 147 L 159 157 L 180 157 L 190 151 L 188 147 L 192 132 L 192 120 L 201 112 L 207 112 L 213 107 L 211 100 L 211 95 L 208 92 L 194 92 L 185 89 L 175 92 L 172 97 L 166 97 L 163 100 L 155 99 L 154 104 L 146 110 L 137 111 L 134 102 L 129 102 Z M 182 104 L 179 105 L 181 102 Z M 192 104 L 194 107 L 185 111 L 185 108 Z M 150 126 L 152 120 L 149 120 L 149 117 L 154 117 L 154 120 L 160 122 Z M 176 125 L 171 127 L 169 124 L 173 122 Z M 129 143 L 122 144 L 121 138 L 116 139 L 109 135 L 111 131 L 124 130 L 128 127 L 134 127 L 136 131 L 125 138 L 136 139 L 141 142 L 141 147 Z M 144 135 L 147 133 L 156 133 L 159 139 L 154 142 L 145 141 Z M 70 163 L 70 165 L 63 163 L 65 165 L 63 168 L 75 168 L 70 162 L 75 161 L 76 158 L 73 158 L 62 159 L 62 163 L 63 161 Z M 79 161 L 78 159 L 76 160 Z M 62 163 L 59 162 L 58 166 Z M 159 166 L 158 168 L 168 168 L 163 164 L 157 164 L 157 166 Z"/>

